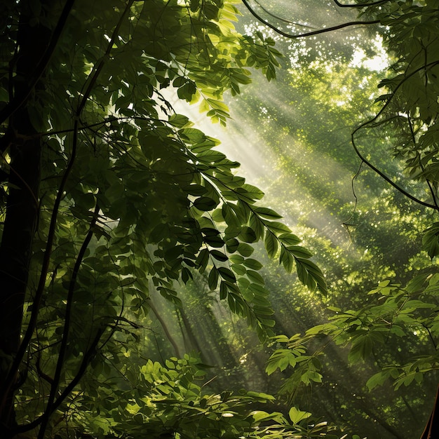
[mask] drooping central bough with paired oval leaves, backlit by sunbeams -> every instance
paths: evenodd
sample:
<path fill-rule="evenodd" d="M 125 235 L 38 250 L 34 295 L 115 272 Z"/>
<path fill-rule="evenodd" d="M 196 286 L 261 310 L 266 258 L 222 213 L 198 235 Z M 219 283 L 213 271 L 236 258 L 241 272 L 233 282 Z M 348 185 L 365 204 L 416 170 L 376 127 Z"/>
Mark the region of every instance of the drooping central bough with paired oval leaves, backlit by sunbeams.
<path fill-rule="evenodd" d="M 270 328 L 275 322 L 269 316 L 274 311 L 258 272 L 262 264 L 251 257 L 253 244 L 263 241 L 269 257 L 278 255 L 289 273 L 296 266 L 300 281 L 310 290 L 318 288 L 326 293 L 323 273 L 309 260 L 311 252 L 298 245 L 300 239 L 278 221 L 281 215 L 256 205 L 263 192 L 231 172 L 239 163 L 212 149 L 217 140 L 189 128 L 185 116 L 176 115 L 172 123 L 179 128 L 177 137 L 188 145 L 187 162 L 191 163 L 193 179 L 182 187 L 189 200 L 187 229 L 180 231 L 176 242 L 171 241 L 172 250 L 161 240 L 165 247 L 157 254 L 168 258 L 172 254 L 175 263 L 168 264 L 180 270 L 178 277 L 184 283 L 192 278 L 191 269 L 208 273 L 210 290 L 219 288 L 219 298 L 227 299 L 231 311 L 245 317 L 264 339 L 266 334 L 272 335 Z M 156 283 L 164 297 L 178 303 L 169 282 L 172 277 L 177 279 L 176 273 L 166 284 L 163 276 L 156 277 Z"/>

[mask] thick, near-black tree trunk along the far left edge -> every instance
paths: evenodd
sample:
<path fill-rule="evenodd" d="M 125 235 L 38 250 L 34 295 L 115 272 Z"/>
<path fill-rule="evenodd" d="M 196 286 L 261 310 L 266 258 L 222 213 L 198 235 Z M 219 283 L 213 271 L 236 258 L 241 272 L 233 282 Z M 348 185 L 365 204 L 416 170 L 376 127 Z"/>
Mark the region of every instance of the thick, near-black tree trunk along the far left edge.
<path fill-rule="evenodd" d="M 47 2 L 42 1 L 43 8 Z M 15 76 L 11 90 L 14 102 L 20 102 L 8 119 L 6 134 L 9 166 L 9 191 L 6 201 L 6 219 L 0 243 L 0 437 L 12 436 L 15 425 L 13 412 L 14 383 L 6 383 L 6 368 L 20 346 L 23 304 L 29 278 L 29 262 L 32 256 L 32 241 L 38 225 L 39 182 L 41 161 L 41 137 L 38 128 L 32 125 L 29 102 L 38 101 L 38 90 L 43 87 L 41 79 L 34 90 L 29 86 L 34 81 L 36 66 L 48 48 L 50 29 L 35 20 L 29 2 L 20 2 L 22 11 L 17 35 Z M 34 20 L 32 20 L 32 18 Z M 11 69 L 13 63 L 11 62 Z M 12 76 L 12 75 L 11 75 Z M 13 106 L 14 107 L 14 106 Z M 41 105 L 42 107 L 42 105 Z M 13 384 L 11 386 L 11 384 Z"/>

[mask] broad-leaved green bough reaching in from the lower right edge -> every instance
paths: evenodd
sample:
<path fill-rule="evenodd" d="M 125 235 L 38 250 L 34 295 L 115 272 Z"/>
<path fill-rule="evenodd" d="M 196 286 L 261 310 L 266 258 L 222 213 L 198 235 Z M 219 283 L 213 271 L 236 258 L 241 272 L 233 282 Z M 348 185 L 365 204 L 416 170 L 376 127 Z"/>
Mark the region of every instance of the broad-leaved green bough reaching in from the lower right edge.
<path fill-rule="evenodd" d="M 293 372 L 285 380 L 283 391 L 294 393 L 301 385 L 322 381 L 322 364 L 318 357 L 325 353 L 330 343 L 349 348 L 348 360 L 358 363 L 372 358 L 381 369 L 368 379 L 367 388 L 393 380 L 396 390 L 421 383 L 424 374 L 439 370 L 438 337 L 439 274 L 415 276 L 407 285 L 382 281 L 369 292 L 374 301 L 359 310 L 346 310 L 329 306 L 333 316 L 328 323 L 311 327 L 304 335 L 292 337 L 278 335 L 272 338 L 276 349 L 266 366 L 266 372 L 284 371 L 291 367 Z M 313 351 L 308 344 L 316 337 L 323 342 Z M 415 352 L 405 357 L 405 363 L 385 363 L 380 350 L 393 339 L 411 338 L 424 353 Z M 433 349 L 431 349 L 433 348 Z"/>

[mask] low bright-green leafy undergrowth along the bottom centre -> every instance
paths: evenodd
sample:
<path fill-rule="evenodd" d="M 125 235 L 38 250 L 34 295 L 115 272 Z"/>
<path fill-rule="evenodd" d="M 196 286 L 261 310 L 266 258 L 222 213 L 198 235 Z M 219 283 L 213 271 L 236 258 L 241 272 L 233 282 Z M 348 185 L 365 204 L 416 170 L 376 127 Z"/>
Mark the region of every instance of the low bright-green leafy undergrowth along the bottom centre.
<path fill-rule="evenodd" d="M 103 376 L 99 379 L 102 394 L 115 389 L 105 400 L 84 394 L 72 405 L 72 417 L 85 427 L 85 432 L 104 438 L 115 435 L 142 437 L 167 434 L 178 438 L 303 438 L 319 437 L 331 431 L 327 423 L 311 424 L 311 414 L 295 407 L 290 410 L 291 423 L 280 412 L 253 410 L 274 398 L 266 393 L 241 390 L 207 393 L 199 384 L 205 377 L 206 365 L 197 356 L 170 358 L 166 365 L 147 360 L 136 368 L 135 391 L 117 389 Z M 252 407 L 252 406 L 255 407 Z M 95 413 L 97 416 L 90 416 Z M 329 436 L 332 437 L 332 436 Z"/>

